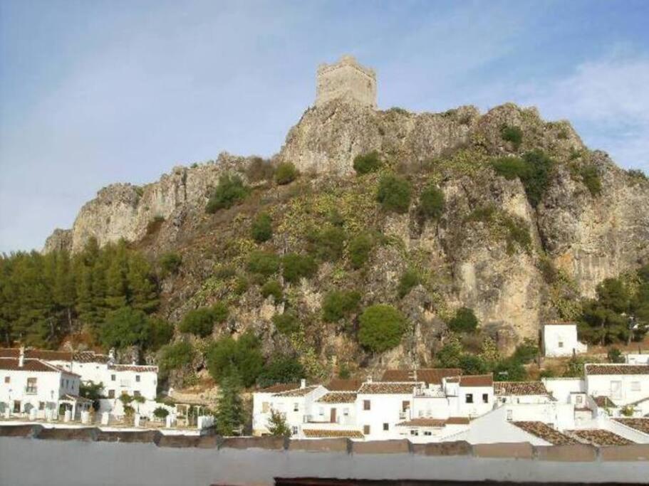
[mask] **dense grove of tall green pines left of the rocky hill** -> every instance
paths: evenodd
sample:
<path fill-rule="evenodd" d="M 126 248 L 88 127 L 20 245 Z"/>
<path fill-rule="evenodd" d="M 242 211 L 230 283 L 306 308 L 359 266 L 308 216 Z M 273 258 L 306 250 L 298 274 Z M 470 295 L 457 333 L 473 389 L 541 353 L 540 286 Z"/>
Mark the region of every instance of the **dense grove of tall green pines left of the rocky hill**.
<path fill-rule="evenodd" d="M 84 326 L 106 343 L 160 345 L 168 332 L 149 317 L 158 304 L 150 263 L 123 241 L 99 248 L 91 239 L 73 257 L 63 250 L 0 257 L 0 336 L 6 346 L 20 341 L 56 347 Z M 135 323 L 137 337 L 116 339 L 125 322 Z"/>

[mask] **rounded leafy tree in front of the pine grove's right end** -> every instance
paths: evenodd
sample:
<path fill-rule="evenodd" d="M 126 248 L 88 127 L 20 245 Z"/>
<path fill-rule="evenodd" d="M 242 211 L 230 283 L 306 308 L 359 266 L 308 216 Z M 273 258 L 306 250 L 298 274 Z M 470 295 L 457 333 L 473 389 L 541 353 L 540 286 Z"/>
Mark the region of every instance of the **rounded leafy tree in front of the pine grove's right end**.
<path fill-rule="evenodd" d="M 149 322 L 141 310 L 122 307 L 106 317 L 101 328 L 101 341 L 107 348 L 145 347 L 149 341 Z"/>

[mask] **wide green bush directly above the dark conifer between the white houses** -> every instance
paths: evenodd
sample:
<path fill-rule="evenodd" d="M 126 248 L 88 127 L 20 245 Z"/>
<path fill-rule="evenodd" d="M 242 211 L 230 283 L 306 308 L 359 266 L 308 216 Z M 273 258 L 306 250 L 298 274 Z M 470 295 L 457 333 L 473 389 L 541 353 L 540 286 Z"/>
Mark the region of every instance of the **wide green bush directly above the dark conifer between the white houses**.
<path fill-rule="evenodd" d="M 239 339 L 222 337 L 205 353 L 210 376 L 220 383 L 226 376 L 238 375 L 244 386 L 251 386 L 264 367 L 261 343 L 246 332 Z"/>

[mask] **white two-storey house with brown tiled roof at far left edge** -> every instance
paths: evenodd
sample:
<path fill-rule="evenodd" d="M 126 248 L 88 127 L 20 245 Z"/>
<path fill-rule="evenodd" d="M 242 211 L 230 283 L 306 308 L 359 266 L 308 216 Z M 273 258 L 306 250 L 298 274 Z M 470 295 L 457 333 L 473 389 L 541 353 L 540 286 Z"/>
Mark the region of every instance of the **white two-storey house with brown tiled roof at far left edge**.
<path fill-rule="evenodd" d="M 81 376 L 41 359 L 0 357 L 0 413 L 31 418 L 76 418 L 90 407 L 79 396 Z"/>

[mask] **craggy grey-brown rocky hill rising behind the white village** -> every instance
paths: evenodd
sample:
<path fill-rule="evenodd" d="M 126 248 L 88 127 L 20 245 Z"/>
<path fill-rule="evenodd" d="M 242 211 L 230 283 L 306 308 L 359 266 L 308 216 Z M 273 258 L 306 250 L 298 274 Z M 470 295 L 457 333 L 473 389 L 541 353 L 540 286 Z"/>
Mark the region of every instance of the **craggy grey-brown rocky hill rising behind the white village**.
<path fill-rule="evenodd" d="M 370 152 L 382 167 L 355 174 L 355 157 Z M 532 167 L 552 162 L 539 190 L 502 167 L 525 157 Z M 290 184 L 272 176 L 283 162 L 300 171 Z M 390 173 L 412 186 L 405 212 L 376 200 L 381 177 Z M 207 213 L 222 174 L 239 174 L 251 194 Z M 437 218 L 420 210 L 430 185 L 444 194 Z M 251 224 L 261 212 L 271 216 L 273 236 L 256 243 Z M 262 282 L 254 278 L 240 285 L 252 252 L 311 252 L 314 235 L 333 227 L 342 229 L 342 258 L 319 258 L 316 274 L 298 282 L 277 277 L 283 298 L 262 297 Z M 368 262 L 355 268 L 350 242 L 360 234 L 370 236 L 371 250 Z M 221 154 L 146 186 L 101 189 L 73 228 L 48 238 L 45 251 L 78 252 L 91 237 L 100 245 L 125 238 L 152 261 L 168 252 L 182 256 L 179 273 L 162 282 L 160 312 L 172 322 L 227 300 L 232 315 L 215 332 L 254 329 L 268 352 L 293 347 L 320 364 L 349 356 L 365 364 L 430 363 L 444 322 L 458 307 L 474 309 L 482 329 L 511 350 L 524 337 L 535 339 L 542 322 L 574 317 L 574 302 L 592 296 L 604 278 L 646 263 L 649 182 L 588 150 L 568 122 L 545 122 L 534 108 L 415 114 L 333 100 L 309 108 L 271 161 Z M 417 275 L 416 285 L 400 295 L 407 270 Z M 402 310 L 410 329 L 400 346 L 380 357 L 367 354 L 353 339 L 353 316 L 346 324 L 323 322 L 323 296 L 335 289 L 358 290 L 362 305 L 385 302 Z M 301 342 L 273 324 L 289 307 L 307 324 Z"/>

